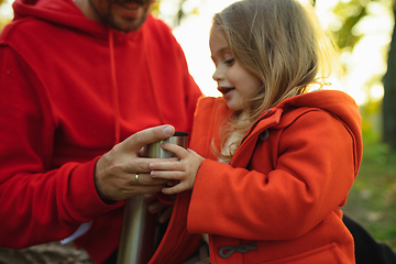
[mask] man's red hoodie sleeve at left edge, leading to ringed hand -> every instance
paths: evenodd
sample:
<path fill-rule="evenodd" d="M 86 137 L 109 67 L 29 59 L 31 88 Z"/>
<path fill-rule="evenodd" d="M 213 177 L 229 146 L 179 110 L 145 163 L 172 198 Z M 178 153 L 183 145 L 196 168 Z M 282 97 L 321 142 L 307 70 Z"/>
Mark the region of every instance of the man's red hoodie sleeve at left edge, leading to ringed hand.
<path fill-rule="evenodd" d="M 42 82 L 0 45 L 0 246 L 65 239 L 109 209 L 97 196 L 97 158 L 52 169 L 55 123 Z"/>

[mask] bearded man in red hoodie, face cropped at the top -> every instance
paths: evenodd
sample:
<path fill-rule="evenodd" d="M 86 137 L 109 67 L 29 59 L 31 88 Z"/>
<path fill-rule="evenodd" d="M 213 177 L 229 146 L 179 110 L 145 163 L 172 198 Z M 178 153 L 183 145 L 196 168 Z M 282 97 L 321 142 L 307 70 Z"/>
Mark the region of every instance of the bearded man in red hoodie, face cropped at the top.
<path fill-rule="evenodd" d="M 0 246 L 75 234 L 102 263 L 118 248 L 123 200 L 167 184 L 138 152 L 190 131 L 201 92 L 153 4 L 14 2 L 0 35 Z M 160 124 L 173 127 L 136 133 Z"/>

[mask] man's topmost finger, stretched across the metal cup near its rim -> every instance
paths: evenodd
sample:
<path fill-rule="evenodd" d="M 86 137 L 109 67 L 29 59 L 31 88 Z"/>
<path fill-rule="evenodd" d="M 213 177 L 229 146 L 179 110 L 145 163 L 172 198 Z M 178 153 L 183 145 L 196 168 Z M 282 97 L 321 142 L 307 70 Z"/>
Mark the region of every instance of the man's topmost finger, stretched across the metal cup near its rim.
<path fill-rule="evenodd" d="M 122 144 L 123 147 L 127 147 L 129 151 L 138 152 L 146 144 L 154 143 L 160 140 L 165 140 L 170 138 L 175 133 L 175 128 L 165 124 L 146 130 L 139 131 L 128 138 Z"/>

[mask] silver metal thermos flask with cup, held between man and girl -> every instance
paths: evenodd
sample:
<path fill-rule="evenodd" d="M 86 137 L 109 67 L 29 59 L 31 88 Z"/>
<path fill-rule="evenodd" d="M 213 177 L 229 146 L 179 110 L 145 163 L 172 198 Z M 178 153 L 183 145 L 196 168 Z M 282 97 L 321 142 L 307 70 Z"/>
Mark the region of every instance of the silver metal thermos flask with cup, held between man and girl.
<path fill-rule="evenodd" d="M 188 133 L 176 132 L 166 140 L 148 144 L 145 147 L 147 157 L 168 158 L 176 156 L 174 153 L 161 147 L 164 142 L 186 147 Z M 120 246 L 117 264 L 147 264 L 160 244 L 160 223 L 156 215 L 150 213 L 147 202 L 143 195 L 125 200 L 122 221 Z"/>

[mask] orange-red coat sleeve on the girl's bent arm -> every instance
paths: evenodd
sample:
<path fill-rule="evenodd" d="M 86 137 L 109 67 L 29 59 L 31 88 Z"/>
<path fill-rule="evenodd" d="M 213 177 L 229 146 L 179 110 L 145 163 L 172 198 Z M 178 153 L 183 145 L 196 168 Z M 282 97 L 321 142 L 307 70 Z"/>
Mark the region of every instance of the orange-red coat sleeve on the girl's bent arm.
<path fill-rule="evenodd" d="M 273 145 L 278 145 L 275 154 L 258 144 L 253 153 L 256 164 L 276 156 L 266 173 L 260 165 L 249 170 L 204 161 L 193 189 L 189 232 L 294 239 L 343 205 L 355 173 L 353 140 L 342 122 L 324 111 L 309 112 Z"/>

